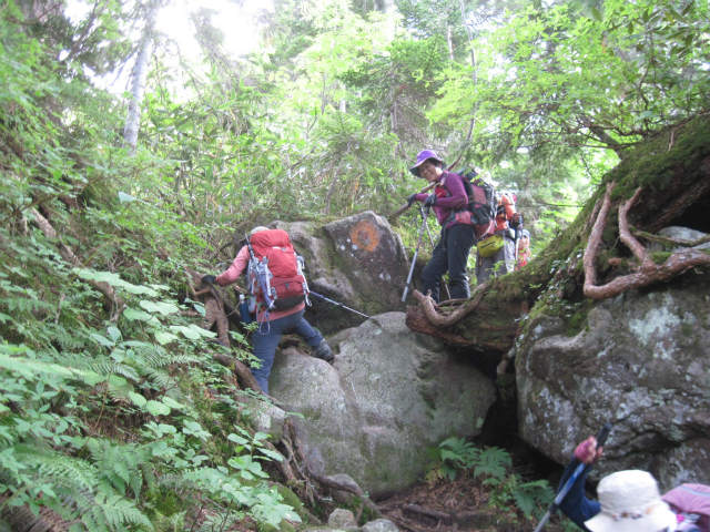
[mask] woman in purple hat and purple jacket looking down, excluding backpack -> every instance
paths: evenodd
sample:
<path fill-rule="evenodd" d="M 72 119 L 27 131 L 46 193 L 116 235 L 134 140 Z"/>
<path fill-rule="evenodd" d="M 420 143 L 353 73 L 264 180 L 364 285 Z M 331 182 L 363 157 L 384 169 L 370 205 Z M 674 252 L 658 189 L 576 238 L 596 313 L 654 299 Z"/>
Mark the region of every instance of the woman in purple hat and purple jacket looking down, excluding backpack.
<path fill-rule="evenodd" d="M 416 164 L 409 172 L 436 184 L 432 194 L 412 194 L 408 198 L 409 205 L 416 201 L 423 202 L 424 206 L 433 207 L 442 226 L 439 242 L 422 272 L 424 293 L 430 293 L 432 298 L 438 303 L 442 276 L 448 272 L 452 298 L 467 299 L 470 288 L 466 263 L 476 241 L 476 233 L 471 213 L 466 208 L 468 196 L 463 177 L 444 170 L 444 161 L 432 150 L 420 151 Z"/>

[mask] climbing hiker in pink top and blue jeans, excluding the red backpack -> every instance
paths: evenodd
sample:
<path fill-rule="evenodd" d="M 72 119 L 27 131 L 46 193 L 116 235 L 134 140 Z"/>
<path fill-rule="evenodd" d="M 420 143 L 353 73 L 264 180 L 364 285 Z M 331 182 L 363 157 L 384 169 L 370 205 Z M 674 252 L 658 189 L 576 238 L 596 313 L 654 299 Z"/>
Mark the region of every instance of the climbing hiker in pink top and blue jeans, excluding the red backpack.
<path fill-rule="evenodd" d="M 261 232 L 275 233 L 278 231 L 280 229 L 268 229 L 267 227 L 255 227 L 250 235 L 254 236 Z M 234 262 L 225 272 L 216 277 L 214 275 L 205 275 L 202 277 L 202 282 L 210 284 L 216 283 L 220 286 L 236 283 L 240 276 L 247 269 L 250 258 L 248 246 L 242 246 Z M 247 283 L 250 283 L 250 279 L 247 279 Z M 256 306 L 255 311 L 256 321 L 258 321 L 260 327 L 252 335 L 252 347 L 254 356 L 261 361 L 261 366 L 258 368 L 251 368 L 251 370 L 264 393 L 268 393 L 268 376 L 271 375 L 271 368 L 274 364 L 274 355 L 276 354 L 278 341 L 285 332 L 293 331 L 303 337 L 308 346 L 314 349 L 313 355 L 315 357 L 327 362 L 333 360 L 333 351 L 327 341 L 325 341 L 318 329 L 313 327 L 303 317 L 305 311 L 305 303 L 303 300 L 291 308 L 284 309 L 268 309 L 263 304 L 260 304 Z"/>

